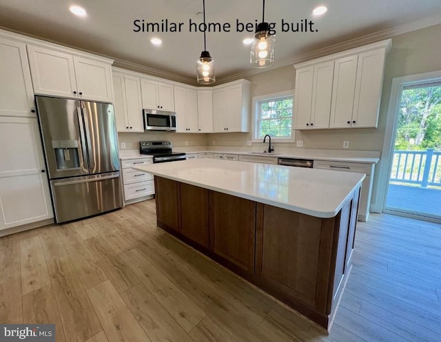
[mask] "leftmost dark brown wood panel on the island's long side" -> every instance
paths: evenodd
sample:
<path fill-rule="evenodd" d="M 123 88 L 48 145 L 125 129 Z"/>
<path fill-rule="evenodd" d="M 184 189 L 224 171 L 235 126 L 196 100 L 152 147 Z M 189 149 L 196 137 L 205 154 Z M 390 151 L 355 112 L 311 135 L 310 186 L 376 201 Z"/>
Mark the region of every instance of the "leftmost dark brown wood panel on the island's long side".
<path fill-rule="evenodd" d="M 162 228 L 181 231 L 181 204 L 179 182 L 167 178 L 155 177 L 156 215 Z M 161 225 L 159 224 L 161 222 Z M 164 226 L 165 225 L 165 226 Z"/>

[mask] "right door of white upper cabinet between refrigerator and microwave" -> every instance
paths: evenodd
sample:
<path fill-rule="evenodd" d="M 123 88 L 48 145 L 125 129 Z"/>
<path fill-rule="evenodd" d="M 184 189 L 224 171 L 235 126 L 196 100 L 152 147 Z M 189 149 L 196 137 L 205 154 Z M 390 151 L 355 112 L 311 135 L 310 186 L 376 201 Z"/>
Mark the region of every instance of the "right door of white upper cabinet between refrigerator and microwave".
<path fill-rule="evenodd" d="M 132 132 L 143 132 L 143 103 L 141 100 L 141 79 L 125 75 L 125 98 L 127 118 Z"/>

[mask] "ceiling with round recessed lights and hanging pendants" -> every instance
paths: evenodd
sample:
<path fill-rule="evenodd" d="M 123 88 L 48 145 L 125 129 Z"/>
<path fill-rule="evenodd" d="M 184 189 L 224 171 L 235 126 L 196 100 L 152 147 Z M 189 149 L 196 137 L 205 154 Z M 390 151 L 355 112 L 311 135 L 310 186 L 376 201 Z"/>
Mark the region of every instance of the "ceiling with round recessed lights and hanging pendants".
<path fill-rule="evenodd" d="M 0 25 L 81 50 L 96 52 L 150 70 L 161 70 L 192 82 L 196 59 L 203 50 L 203 33 L 189 32 L 189 21 L 201 23 L 202 0 L 0 0 Z M 88 12 L 75 17 L 68 10 L 77 4 Z M 315 6 L 328 12 L 314 17 Z M 215 61 L 216 78 L 262 71 L 249 65 L 249 47 L 243 39 L 251 32 L 237 32 L 240 23 L 260 22 L 261 0 L 206 0 L 207 23 L 229 23 L 230 32 L 207 32 L 207 50 Z M 181 32 L 134 32 L 134 20 L 146 23 L 183 23 Z M 318 32 L 282 32 L 281 23 L 314 22 Z M 276 23 L 276 64 L 288 65 L 295 57 L 322 47 L 343 43 L 391 28 L 419 28 L 441 23 L 440 0 L 267 0 L 265 21 Z M 404 25 L 404 26 L 402 26 Z M 413 25 L 413 26 L 412 26 Z M 286 25 L 285 25 L 286 27 Z M 170 28 L 170 25 L 169 25 Z M 152 36 L 163 40 L 159 47 Z M 153 68 L 153 69 L 152 69 Z M 170 78 L 170 77 L 169 77 Z"/>

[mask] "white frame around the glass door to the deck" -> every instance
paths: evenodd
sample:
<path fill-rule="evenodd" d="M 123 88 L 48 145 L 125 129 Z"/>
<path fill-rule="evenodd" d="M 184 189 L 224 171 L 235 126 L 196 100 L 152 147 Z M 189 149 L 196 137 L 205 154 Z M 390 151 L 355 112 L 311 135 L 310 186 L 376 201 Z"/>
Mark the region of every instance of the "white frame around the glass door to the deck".
<path fill-rule="evenodd" d="M 426 83 L 441 82 L 441 71 L 426 72 L 409 76 L 396 77 L 392 80 L 391 95 L 389 96 L 389 109 L 387 110 L 386 129 L 382 148 L 380 170 L 378 172 L 378 191 L 376 194 L 376 209 L 383 212 L 386 206 L 386 196 L 389 184 L 389 175 L 392 168 L 393 145 L 396 137 L 396 119 L 401 102 L 401 94 L 404 87 L 411 85 L 423 85 Z"/>

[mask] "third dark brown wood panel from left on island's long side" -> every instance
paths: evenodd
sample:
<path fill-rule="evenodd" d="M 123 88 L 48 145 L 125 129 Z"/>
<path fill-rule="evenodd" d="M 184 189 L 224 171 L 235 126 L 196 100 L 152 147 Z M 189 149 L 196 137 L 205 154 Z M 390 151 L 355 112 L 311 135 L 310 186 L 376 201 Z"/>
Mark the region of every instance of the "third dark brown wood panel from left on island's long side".
<path fill-rule="evenodd" d="M 210 191 L 209 215 L 212 252 L 253 273 L 256 202 Z"/>

